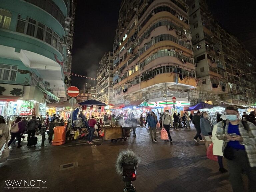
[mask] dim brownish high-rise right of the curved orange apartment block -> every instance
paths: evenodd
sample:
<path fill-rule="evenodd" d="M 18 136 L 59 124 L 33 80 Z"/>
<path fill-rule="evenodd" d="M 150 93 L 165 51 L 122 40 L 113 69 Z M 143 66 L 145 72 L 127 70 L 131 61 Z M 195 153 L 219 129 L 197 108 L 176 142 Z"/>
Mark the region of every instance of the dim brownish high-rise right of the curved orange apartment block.
<path fill-rule="evenodd" d="M 255 74 L 247 74 L 255 71 L 255 58 L 213 18 L 205 0 L 188 3 L 198 89 L 234 104 L 255 103 Z"/>

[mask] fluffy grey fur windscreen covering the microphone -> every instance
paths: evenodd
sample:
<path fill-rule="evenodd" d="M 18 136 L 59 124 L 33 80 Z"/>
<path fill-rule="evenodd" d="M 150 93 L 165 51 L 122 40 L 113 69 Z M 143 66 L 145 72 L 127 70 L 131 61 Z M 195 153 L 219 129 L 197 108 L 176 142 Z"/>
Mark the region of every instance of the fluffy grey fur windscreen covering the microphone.
<path fill-rule="evenodd" d="M 124 150 L 118 154 L 116 160 L 116 172 L 120 175 L 123 174 L 123 164 L 133 164 L 137 168 L 137 164 L 140 162 L 140 158 L 132 150 Z"/>

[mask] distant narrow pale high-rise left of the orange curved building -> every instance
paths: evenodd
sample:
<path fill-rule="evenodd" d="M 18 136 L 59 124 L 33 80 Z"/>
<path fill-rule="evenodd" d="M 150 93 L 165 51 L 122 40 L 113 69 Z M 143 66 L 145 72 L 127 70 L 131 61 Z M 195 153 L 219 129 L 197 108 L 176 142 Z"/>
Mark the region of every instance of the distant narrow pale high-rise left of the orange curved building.
<path fill-rule="evenodd" d="M 97 100 L 113 103 L 113 52 L 107 52 L 99 62 L 96 85 Z"/>

